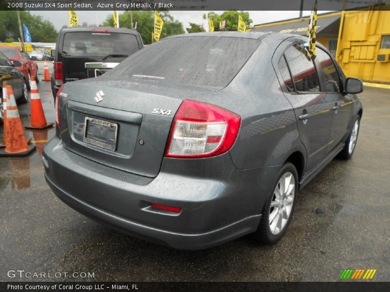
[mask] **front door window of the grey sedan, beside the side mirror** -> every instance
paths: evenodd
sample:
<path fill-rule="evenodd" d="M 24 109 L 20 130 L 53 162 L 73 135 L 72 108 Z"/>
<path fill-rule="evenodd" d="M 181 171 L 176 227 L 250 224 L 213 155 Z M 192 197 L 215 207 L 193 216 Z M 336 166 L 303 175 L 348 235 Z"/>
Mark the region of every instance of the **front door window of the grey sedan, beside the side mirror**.
<path fill-rule="evenodd" d="M 317 49 L 316 59 L 318 60 L 319 67 L 321 68 L 322 75 L 325 79 L 323 82 L 324 91 L 340 92 L 340 77 L 331 57 L 321 49 Z"/>

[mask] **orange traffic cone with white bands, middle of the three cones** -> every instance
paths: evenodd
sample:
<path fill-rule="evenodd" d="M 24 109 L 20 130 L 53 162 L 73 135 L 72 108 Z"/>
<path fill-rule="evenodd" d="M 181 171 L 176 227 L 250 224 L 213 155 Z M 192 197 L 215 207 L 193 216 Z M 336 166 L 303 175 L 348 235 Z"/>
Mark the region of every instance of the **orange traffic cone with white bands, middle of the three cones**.
<path fill-rule="evenodd" d="M 54 123 L 46 123 L 45 113 L 40 102 L 39 91 L 35 77 L 31 76 L 31 125 L 24 126 L 26 129 L 47 129 L 53 127 Z"/>

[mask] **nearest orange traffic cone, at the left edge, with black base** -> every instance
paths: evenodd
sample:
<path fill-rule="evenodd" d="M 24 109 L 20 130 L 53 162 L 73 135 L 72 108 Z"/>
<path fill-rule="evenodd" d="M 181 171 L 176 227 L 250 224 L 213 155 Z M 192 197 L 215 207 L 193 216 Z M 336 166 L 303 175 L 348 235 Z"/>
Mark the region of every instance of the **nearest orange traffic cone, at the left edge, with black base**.
<path fill-rule="evenodd" d="M 21 125 L 19 111 L 16 106 L 14 92 L 11 86 L 7 86 L 7 123 L 5 149 L 0 150 L 0 157 L 4 156 L 27 156 L 37 147 L 28 146 L 24 136 L 23 126 Z"/>

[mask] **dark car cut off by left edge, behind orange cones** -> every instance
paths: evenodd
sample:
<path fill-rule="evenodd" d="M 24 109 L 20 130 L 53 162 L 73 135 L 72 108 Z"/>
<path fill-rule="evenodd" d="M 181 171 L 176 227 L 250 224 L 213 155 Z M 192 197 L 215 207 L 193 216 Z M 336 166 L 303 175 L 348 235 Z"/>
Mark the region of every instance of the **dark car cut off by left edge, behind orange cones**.
<path fill-rule="evenodd" d="M 16 63 L 18 61 L 14 61 Z M 15 64 L 16 65 L 16 64 Z M 15 99 L 19 103 L 26 103 L 28 101 L 27 82 L 21 73 L 11 61 L 0 52 L 0 124 L 3 124 L 4 111 L 3 111 L 3 96 L 2 88 L 3 82 L 7 82 L 12 86 Z"/>

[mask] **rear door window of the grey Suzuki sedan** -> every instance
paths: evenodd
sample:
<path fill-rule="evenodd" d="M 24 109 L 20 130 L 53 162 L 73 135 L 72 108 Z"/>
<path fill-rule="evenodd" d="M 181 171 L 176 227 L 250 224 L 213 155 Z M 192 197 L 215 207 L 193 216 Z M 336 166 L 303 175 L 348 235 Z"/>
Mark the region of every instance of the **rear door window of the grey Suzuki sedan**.
<path fill-rule="evenodd" d="M 296 91 L 319 92 L 319 80 L 312 60 L 299 45 L 292 45 L 284 53 L 290 67 Z"/>

